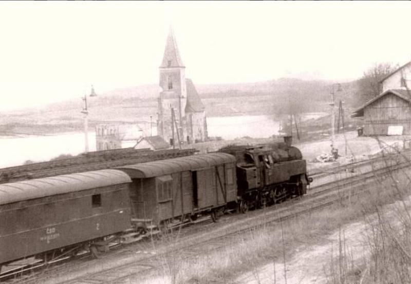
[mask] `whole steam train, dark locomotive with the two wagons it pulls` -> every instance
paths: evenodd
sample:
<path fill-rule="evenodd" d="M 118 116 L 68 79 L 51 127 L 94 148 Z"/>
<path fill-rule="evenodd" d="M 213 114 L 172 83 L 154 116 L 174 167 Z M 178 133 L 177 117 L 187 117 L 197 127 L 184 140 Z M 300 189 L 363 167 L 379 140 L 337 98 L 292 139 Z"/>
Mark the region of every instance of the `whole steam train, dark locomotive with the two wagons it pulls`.
<path fill-rule="evenodd" d="M 284 142 L 0 185 L 0 271 L 19 259 L 49 262 L 115 239 L 131 242 L 199 217 L 216 221 L 292 196 L 312 181 Z"/>

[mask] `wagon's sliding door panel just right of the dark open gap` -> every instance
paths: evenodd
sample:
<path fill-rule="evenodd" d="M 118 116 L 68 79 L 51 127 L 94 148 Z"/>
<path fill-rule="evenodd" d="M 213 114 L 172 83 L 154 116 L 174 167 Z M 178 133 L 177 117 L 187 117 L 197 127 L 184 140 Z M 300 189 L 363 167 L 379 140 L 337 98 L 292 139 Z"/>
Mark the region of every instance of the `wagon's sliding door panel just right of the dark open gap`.
<path fill-rule="evenodd" d="M 193 172 L 196 173 L 196 185 L 193 179 L 193 188 L 197 188 L 197 208 L 207 208 L 216 205 L 215 180 L 213 178 L 213 169 L 203 169 Z M 194 192 L 195 197 L 195 192 Z"/>

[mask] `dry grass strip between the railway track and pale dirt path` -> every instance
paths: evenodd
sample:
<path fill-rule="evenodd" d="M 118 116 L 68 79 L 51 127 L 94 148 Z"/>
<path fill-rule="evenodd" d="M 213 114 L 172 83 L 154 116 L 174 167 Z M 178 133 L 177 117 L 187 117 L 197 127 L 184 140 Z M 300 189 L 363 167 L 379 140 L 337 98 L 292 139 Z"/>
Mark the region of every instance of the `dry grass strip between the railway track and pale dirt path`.
<path fill-rule="evenodd" d="M 156 279 L 164 283 L 226 283 L 245 271 L 256 272 L 266 263 L 282 266 L 283 253 L 288 261 L 296 248 L 318 245 L 335 228 L 361 216 L 361 210 L 355 208 L 352 206 L 351 214 L 347 215 L 343 214 L 346 206 L 335 205 L 286 220 L 283 231 L 279 226 L 263 226 L 232 239 L 218 250 L 206 249 L 190 258 L 161 259 L 163 265 Z M 258 277 L 258 273 L 255 275 Z"/>

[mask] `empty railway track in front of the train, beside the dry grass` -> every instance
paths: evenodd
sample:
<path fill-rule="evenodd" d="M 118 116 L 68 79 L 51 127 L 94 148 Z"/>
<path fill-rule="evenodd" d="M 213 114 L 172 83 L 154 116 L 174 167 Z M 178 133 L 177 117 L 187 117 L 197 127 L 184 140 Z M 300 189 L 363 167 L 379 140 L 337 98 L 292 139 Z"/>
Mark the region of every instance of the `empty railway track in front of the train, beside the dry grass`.
<path fill-rule="evenodd" d="M 227 219 L 222 218 L 222 221 L 224 219 L 230 221 L 226 224 L 219 224 L 221 226 L 218 226 L 218 228 L 211 230 L 210 227 L 214 227 L 214 225 L 204 224 L 205 226 L 201 226 L 202 230 L 200 232 L 184 235 L 183 237 L 175 237 L 171 234 L 172 241 L 147 241 L 145 247 L 141 247 L 139 251 L 130 247 L 110 254 L 101 260 L 86 261 L 81 263 L 82 268 L 86 271 L 84 274 L 73 274 L 73 270 L 76 270 L 74 267 L 63 266 L 59 270 L 51 269 L 49 272 L 36 273 L 26 279 L 17 279 L 17 281 L 12 282 L 47 283 L 47 278 L 52 277 L 52 280 L 49 280 L 50 283 L 130 283 L 133 282 L 130 279 L 135 281 L 136 278 L 140 279 L 153 274 L 159 267 L 177 256 L 180 258 L 182 256 L 186 258 L 195 256 L 199 251 L 204 251 L 204 247 L 208 248 L 208 251 L 218 250 L 253 228 L 267 225 L 275 226 L 281 220 L 306 214 L 336 201 L 352 198 L 363 193 L 366 190 L 365 185 L 376 182 L 376 175 L 384 176 L 392 171 L 409 167 L 409 163 L 405 159 L 397 165 L 393 165 L 393 163 L 387 165 L 386 161 L 382 164 L 375 162 L 376 160 L 373 163 L 377 164 L 379 168 L 373 166 L 374 171 L 326 182 L 312 188 L 311 192 L 302 199 L 292 199 L 289 202 L 249 212 L 246 215 L 233 216 L 236 220 L 232 220 L 230 217 Z M 204 231 L 209 233 L 204 234 Z M 154 247 L 150 248 L 150 246 Z M 143 250 L 146 253 L 143 253 Z M 120 255 L 121 260 L 119 261 L 116 258 Z M 103 264 L 101 264 L 102 262 Z M 71 275 L 68 276 L 69 274 Z"/>

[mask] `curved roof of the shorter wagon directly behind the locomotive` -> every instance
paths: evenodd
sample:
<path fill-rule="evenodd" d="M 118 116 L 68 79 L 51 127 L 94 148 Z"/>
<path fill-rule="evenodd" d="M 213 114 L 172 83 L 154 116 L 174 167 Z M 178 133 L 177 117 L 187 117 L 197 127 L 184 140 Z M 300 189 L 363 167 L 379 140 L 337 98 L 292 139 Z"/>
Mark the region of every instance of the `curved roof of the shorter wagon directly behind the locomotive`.
<path fill-rule="evenodd" d="M 117 169 L 125 171 L 132 178 L 146 178 L 181 171 L 198 170 L 232 162 L 235 162 L 233 155 L 227 153 L 208 153 L 122 166 Z"/>

